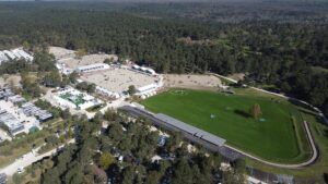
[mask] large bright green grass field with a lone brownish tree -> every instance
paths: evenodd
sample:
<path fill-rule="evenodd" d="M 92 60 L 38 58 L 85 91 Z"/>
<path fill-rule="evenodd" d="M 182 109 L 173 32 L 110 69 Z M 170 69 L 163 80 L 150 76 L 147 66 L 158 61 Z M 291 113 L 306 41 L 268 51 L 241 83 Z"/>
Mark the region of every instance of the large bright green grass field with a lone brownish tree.
<path fill-rule="evenodd" d="M 296 107 L 251 93 L 171 89 L 141 101 L 153 112 L 166 113 L 227 140 L 229 145 L 276 162 L 301 162 L 311 156 Z M 262 115 L 249 114 L 259 103 Z"/>

